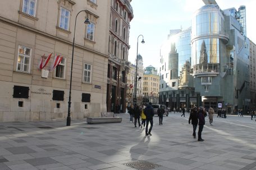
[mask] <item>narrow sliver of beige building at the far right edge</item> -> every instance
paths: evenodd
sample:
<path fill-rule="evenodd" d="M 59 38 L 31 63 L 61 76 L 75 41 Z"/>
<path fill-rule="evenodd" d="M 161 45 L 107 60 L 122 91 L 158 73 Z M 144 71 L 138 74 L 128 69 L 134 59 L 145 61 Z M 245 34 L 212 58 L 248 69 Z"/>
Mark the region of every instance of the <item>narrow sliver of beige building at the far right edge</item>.
<path fill-rule="evenodd" d="M 250 103 L 251 107 L 256 108 L 256 78 L 255 78 L 255 60 L 256 44 L 250 40 Z"/>

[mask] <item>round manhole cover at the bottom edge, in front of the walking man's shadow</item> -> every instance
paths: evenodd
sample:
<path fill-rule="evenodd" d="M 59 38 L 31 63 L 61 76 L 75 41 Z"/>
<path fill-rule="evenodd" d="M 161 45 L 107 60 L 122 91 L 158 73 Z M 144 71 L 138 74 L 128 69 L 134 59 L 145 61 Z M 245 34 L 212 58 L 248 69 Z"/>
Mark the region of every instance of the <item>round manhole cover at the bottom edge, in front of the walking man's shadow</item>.
<path fill-rule="evenodd" d="M 147 162 L 144 160 L 138 160 L 136 162 L 124 163 L 124 165 L 134 168 L 134 169 L 138 169 L 138 170 L 149 170 L 149 169 L 161 167 L 158 164 L 154 164 L 154 163 Z"/>

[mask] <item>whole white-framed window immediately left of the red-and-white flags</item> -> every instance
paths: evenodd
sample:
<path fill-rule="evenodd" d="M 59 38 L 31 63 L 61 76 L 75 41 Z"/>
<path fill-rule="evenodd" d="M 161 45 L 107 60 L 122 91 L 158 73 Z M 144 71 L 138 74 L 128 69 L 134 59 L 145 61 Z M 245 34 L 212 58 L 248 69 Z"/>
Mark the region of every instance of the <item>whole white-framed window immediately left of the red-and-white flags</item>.
<path fill-rule="evenodd" d="M 19 45 L 17 71 L 29 73 L 30 59 L 31 59 L 31 49 L 26 48 L 25 46 Z"/>

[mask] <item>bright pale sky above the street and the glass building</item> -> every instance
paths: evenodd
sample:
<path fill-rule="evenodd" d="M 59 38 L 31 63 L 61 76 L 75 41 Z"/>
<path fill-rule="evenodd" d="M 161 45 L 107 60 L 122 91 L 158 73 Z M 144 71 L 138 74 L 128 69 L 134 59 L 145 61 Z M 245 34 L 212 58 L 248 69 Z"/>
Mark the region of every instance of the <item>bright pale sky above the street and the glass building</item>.
<path fill-rule="evenodd" d="M 216 0 L 218 6 L 225 10 L 241 5 L 246 7 L 246 35 L 256 43 L 256 20 L 253 12 L 256 0 Z M 161 45 L 167 40 L 170 30 L 185 30 L 191 26 L 193 13 L 204 6 L 202 0 L 132 0 L 131 6 L 134 18 L 130 22 L 129 56 L 128 60 L 135 63 L 137 40 L 143 35 L 144 44 L 139 37 L 138 54 L 143 57 L 143 66 L 158 68 Z"/>

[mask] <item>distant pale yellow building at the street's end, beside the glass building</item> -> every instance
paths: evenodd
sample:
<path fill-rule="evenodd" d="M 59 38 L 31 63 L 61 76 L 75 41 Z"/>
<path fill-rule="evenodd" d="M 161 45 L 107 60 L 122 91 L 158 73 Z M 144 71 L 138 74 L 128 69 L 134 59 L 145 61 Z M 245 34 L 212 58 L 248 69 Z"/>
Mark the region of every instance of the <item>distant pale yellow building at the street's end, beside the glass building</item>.
<path fill-rule="evenodd" d="M 143 74 L 143 104 L 148 102 L 158 104 L 159 101 L 159 75 L 157 69 L 152 65 L 145 68 Z"/>

